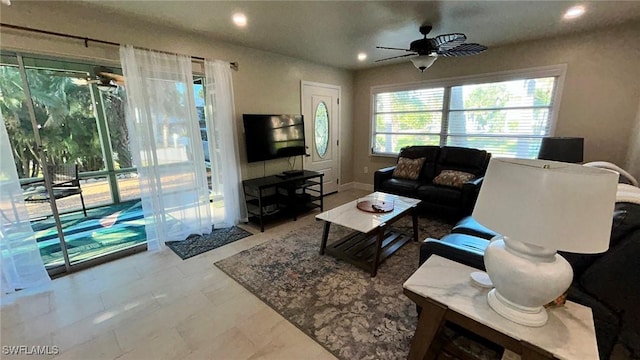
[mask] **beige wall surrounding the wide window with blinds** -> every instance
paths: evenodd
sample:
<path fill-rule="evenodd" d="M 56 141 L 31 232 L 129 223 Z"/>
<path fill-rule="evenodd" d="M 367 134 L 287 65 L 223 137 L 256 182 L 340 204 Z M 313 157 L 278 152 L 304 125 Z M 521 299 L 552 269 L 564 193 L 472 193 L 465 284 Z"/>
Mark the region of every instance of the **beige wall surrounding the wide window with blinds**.
<path fill-rule="evenodd" d="M 490 48 L 470 57 L 438 59 L 424 73 L 409 61 L 357 71 L 353 126 L 363 129 L 363 135 L 353 139 L 354 179 L 372 184 L 375 169 L 395 163 L 394 158 L 369 155 L 372 86 L 557 64 L 567 64 L 567 74 L 555 135 L 583 136 L 585 162 L 603 160 L 630 168 L 628 162 L 636 161 L 637 172 L 640 135 L 632 140 L 629 134 L 638 122 L 639 59 L 640 25 L 630 24 L 608 31 Z M 636 149 L 635 157 L 627 155 L 631 154 L 630 147 Z M 364 167 L 369 173 L 364 173 Z"/>

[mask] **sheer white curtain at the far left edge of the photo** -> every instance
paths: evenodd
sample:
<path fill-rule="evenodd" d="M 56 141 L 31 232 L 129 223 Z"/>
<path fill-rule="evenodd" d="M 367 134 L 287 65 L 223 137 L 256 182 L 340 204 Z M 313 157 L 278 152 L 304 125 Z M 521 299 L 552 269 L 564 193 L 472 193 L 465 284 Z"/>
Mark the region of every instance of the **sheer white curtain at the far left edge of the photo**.
<path fill-rule="evenodd" d="M 18 172 L 4 119 L 0 114 L 0 253 L 2 291 L 34 288 L 51 281 L 24 205 Z"/>

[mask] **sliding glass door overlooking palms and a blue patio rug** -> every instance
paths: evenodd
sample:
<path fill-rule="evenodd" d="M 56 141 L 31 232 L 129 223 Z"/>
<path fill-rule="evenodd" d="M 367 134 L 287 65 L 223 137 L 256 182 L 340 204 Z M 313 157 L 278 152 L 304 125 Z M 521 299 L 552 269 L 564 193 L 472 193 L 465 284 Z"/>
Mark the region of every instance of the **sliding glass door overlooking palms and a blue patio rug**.
<path fill-rule="evenodd" d="M 2 54 L 0 106 L 45 266 L 57 273 L 104 261 L 118 252 L 144 250 L 124 88 L 101 79 L 104 68 L 94 64 L 23 56 L 21 67 L 19 56 Z M 42 181 L 46 166 L 77 169 L 70 175 L 77 176 L 82 195 L 55 190 L 57 211 Z M 49 177 L 54 183 L 62 181 L 58 174 Z"/>

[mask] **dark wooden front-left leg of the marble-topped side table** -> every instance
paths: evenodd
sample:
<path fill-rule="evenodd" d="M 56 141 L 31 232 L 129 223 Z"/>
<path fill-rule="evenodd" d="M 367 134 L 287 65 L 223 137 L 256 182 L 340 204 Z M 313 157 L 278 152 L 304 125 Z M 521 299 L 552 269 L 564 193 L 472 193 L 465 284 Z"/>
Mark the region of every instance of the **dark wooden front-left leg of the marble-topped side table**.
<path fill-rule="evenodd" d="M 426 301 L 422 305 L 416 333 L 411 340 L 409 360 L 426 359 L 427 354 L 435 357 L 437 351 L 436 349 L 430 349 L 430 347 L 444 325 L 446 312 L 446 307 L 430 301 Z"/>

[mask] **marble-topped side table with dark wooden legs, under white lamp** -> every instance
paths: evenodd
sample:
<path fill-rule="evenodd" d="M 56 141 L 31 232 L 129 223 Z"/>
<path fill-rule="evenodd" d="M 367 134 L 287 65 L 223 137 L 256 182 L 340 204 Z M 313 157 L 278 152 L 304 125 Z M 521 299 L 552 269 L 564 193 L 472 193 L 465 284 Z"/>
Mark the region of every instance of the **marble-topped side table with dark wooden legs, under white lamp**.
<path fill-rule="evenodd" d="M 494 312 L 488 289 L 471 283 L 472 267 L 433 255 L 404 283 L 404 293 L 422 307 L 409 359 L 434 359 L 436 341 L 449 321 L 527 359 L 598 359 L 591 309 L 571 301 L 548 309 L 542 327 L 516 324 Z"/>

